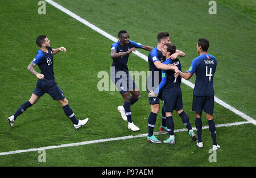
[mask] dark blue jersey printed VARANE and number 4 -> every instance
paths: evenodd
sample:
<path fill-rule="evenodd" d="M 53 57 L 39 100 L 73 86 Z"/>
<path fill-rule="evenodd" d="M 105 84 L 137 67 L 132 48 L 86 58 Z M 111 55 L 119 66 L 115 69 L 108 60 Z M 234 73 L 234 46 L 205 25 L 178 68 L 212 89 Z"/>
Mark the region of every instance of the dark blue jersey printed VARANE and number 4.
<path fill-rule="evenodd" d="M 193 59 L 188 72 L 196 72 L 194 96 L 213 96 L 213 77 L 216 71 L 217 60 L 214 56 L 203 54 Z"/>

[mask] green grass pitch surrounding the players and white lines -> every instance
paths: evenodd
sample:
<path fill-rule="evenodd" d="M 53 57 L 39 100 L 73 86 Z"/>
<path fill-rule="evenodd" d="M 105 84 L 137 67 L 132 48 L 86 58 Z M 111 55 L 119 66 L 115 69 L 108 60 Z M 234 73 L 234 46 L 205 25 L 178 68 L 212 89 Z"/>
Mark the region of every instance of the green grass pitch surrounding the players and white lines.
<path fill-rule="evenodd" d="M 255 1 L 216 1 L 214 15 L 208 13 L 209 1 L 205 0 L 55 2 L 116 38 L 118 31 L 125 29 L 131 40 L 155 47 L 156 34 L 170 32 L 171 42 L 186 53 L 180 59 L 183 70 L 197 56 L 197 40 L 207 38 L 208 52 L 218 61 L 215 96 L 255 119 Z M 110 74 L 113 42 L 48 3 L 46 14 L 38 14 L 38 8 L 38 1 L 0 1 L 0 152 L 146 134 L 150 114 L 146 92 L 142 91 L 140 100 L 131 106 L 133 122 L 141 128 L 133 133 L 117 111 L 117 106 L 123 104 L 119 92 L 97 89 L 101 79 L 98 72 Z M 54 56 L 55 79 L 76 117 L 89 118 L 80 130 L 75 130 L 60 104 L 47 94 L 20 115 L 13 128 L 7 124 L 6 119 L 30 98 L 35 88 L 37 79 L 27 71 L 27 66 L 38 51 L 35 39 L 42 34 L 48 36 L 53 48 L 67 48 L 66 53 Z M 138 51 L 148 55 L 147 51 Z M 127 65 L 130 71 L 148 71 L 148 63 L 133 54 Z M 195 77 L 191 81 L 195 82 Z M 181 84 L 181 90 L 184 110 L 195 127 L 195 113 L 191 111 L 193 89 Z M 158 114 L 155 132 L 159 131 L 161 121 Z M 246 120 L 215 104 L 214 121 L 220 125 Z M 174 122 L 175 130 L 185 128 L 176 113 Z M 207 125 L 203 114 L 203 126 Z M 158 138 L 164 140 L 167 135 Z M 38 162 L 37 151 L 2 155 L 0 166 L 255 167 L 255 135 L 251 123 L 218 127 L 217 142 L 221 149 L 217 150 L 217 162 L 208 160 L 212 139 L 209 130 L 204 129 L 203 149 L 197 148 L 184 131 L 175 133 L 175 146 L 151 144 L 146 137 L 139 137 L 46 150 L 43 163 Z"/>

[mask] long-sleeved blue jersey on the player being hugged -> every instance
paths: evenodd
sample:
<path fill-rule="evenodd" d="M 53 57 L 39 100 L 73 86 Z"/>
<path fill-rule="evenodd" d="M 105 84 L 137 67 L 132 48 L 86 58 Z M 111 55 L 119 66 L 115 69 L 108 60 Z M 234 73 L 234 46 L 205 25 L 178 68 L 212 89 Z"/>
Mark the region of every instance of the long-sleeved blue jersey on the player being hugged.
<path fill-rule="evenodd" d="M 164 61 L 163 64 L 176 65 L 181 71 L 181 63 L 180 63 L 180 60 L 177 58 L 175 60 L 171 60 L 169 58 L 166 61 Z M 166 89 L 174 88 L 175 86 L 179 86 L 181 84 L 181 77 L 178 76 L 177 78 L 175 78 L 174 73 L 175 72 L 172 70 L 166 70 L 166 71 L 162 70 L 162 80 L 158 88 L 154 90 L 154 93 L 158 93 L 162 89 L 166 90 Z"/>

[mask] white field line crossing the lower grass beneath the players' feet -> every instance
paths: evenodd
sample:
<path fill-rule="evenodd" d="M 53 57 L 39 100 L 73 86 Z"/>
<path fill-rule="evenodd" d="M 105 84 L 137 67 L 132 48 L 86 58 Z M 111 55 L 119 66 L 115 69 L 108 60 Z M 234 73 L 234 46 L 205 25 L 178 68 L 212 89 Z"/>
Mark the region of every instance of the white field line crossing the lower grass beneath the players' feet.
<path fill-rule="evenodd" d="M 250 122 L 244 121 L 244 122 L 226 123 L 226 124 L 216 125 L 216 127 L 239 126 L 239 125 L 243 125 L 243 124 L 246 124 L 246 123 L 250 123 Z M 208 129 L 208 128 L 209 128 L 208 126 L 203 127 L 203 129 Z M 195 130 L 196 128 L 193 127 L 192 129 Z M 174 133 L 179 133 L 179 132 L 183 132 L 183 131 L 187 131 L 187 129 L 177 129 L 177 130 L 174 131 Z M 154 133 L 154 134 L 155 135 L 167 134 L 167 132 L 160 131 L 160 132 Z M 110 142 L 110 141 L 115 141 L 115 140 L 126 140 L 126 139 L 146 137 L 146 136 L 147 136 L 147 134 L 129 135 L 129 136 L 121 136 L 121 137 L 115 137 L 115 138 L 90 140 L 90 141 L 86 141 L 86 142 L 61 144 L 61 145 L 58 145 L 58 146 L 47 146 L 47 147 L 40 147 L 40 148 L 31 148 L 31 149 L 27 149 L 27 150 L 15 150 L 15 151 L 8 151 L 8 152 L 0 152 L 0 156 L 20 154 L 20 153 L 23 153 L 23 152 L 32 152 L 32 151 L 39 151 L 39 150 L 50 150 L 50 149 L 55 149 L 55 148 L 81 146 L 81 145 L 93 144 L 93 143 Z"/>

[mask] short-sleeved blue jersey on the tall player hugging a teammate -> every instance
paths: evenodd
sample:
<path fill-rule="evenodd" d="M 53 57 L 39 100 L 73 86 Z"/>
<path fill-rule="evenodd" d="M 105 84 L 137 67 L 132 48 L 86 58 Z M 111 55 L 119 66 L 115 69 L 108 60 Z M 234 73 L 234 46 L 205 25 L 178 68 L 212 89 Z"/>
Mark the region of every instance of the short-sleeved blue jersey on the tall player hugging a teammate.
<path fill-rule="evenodd" d="M 155 61 L 160 61 L 162 63 L 165 60 L 165 57 L 163 56 L 163 53 L 159 51 L 157 47 L 155 47 L 150 51 L 147 59 L 150 70 L 150 74 L 147 78 L 147 90 L 149 92 L 150 90 L 156 88 L 162 80 L 161 70 L 156 68 L 154 63 Z M 155 77 L 158 77 L 156 78 L 158 82 L 155 81 Z"/>

